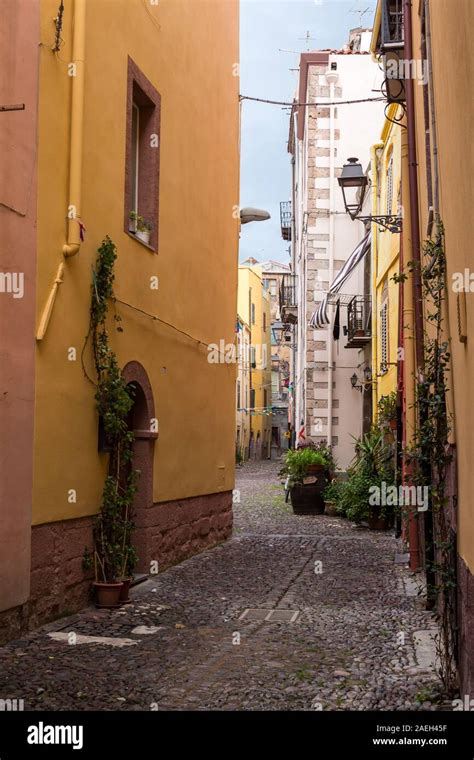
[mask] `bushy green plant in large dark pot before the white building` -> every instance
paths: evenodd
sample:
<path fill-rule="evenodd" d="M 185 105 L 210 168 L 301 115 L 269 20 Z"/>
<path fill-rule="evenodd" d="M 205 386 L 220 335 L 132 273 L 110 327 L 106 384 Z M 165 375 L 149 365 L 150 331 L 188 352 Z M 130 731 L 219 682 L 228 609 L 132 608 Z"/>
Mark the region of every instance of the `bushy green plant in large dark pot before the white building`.
<path fill-rule="evenodd" d="M 322 514 L 323 491 L 327 484 L 328 460 L 320 451 L 310 447 L 289 449 L 280 475 L 286 476 L 295 514 Z"/>

